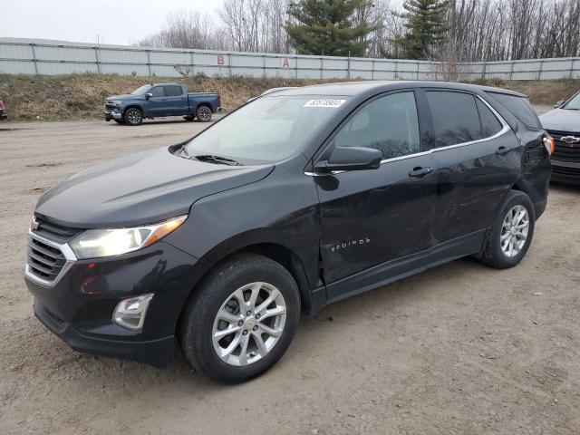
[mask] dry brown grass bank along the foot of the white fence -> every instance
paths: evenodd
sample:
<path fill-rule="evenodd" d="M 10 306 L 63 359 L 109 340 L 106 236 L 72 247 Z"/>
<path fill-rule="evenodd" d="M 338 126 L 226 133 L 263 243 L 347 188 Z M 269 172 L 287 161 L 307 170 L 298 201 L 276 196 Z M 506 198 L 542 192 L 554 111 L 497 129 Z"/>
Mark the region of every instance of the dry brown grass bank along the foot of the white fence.
<path fill-rule="evenodd" d="M 13 121 L 99 119 L 107 96 L 128 93 L 150 82 L 184 83 L 189 92 L 219 92 L 224 109 L 230 111 L 269 88 L 337 81 L 248 77 L 168 79 L 93 73 L 54 76 L 0 74 L 0 95 Z M 493 80 L 478 83 L 526 93 L 534 104 L 554 104 L 580 89 L 580 80 Z"/>

